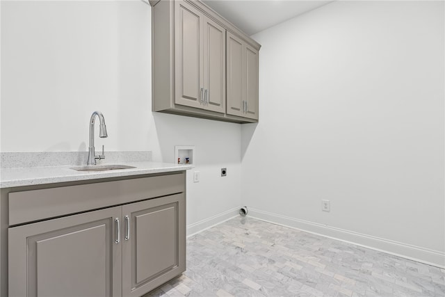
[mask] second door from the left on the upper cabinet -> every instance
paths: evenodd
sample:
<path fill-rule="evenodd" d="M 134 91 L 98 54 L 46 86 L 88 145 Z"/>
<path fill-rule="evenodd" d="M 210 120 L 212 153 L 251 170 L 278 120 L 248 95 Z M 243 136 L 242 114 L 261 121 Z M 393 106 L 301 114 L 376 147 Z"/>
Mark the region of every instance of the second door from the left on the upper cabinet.
<path fill-rule="evenodd" d="M 225 113 L 225 29 L 208 17 L 204 22 L 204 106 Z"/>

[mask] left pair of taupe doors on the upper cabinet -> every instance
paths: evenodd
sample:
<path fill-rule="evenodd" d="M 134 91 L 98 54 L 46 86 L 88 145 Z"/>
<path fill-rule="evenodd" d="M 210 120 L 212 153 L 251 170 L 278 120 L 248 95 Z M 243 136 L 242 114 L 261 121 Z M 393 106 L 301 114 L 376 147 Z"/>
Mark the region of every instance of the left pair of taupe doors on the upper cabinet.
<path fill-rule="evenodd" d="M 225 29 L 176 2 L 175 104 L 225 112 Z"/>

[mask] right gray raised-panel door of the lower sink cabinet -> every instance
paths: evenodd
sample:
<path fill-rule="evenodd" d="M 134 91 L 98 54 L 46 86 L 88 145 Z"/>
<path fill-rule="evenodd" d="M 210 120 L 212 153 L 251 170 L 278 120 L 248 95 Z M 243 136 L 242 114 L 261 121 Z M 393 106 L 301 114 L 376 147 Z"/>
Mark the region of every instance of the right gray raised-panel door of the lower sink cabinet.
<path fill-rule="evenodd" d="M 122 295 L 141 296 L 186 269 L 185 194 L 122 207 Z"/>

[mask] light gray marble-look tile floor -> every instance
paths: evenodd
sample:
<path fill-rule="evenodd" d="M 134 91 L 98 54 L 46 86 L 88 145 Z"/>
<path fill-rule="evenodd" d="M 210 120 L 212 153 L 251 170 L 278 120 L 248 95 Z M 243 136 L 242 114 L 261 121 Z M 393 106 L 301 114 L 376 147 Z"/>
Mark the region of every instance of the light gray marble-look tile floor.
<path fill-rule="evenodd" d="M 233 218 L 187 239 L 187 271 L 152 296 L 445 296 L 445 270 Z"/>

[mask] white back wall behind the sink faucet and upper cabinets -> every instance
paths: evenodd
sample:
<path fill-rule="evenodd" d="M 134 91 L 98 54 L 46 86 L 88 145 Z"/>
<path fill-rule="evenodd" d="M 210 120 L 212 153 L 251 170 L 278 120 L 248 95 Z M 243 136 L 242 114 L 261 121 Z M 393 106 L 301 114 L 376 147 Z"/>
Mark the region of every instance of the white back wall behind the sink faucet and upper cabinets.
<path fill-rule="evenodd" d="M 201 181 L 189 170 L 187 223 L 196 232 L 236 214 L 241 125 L 152 113 L 151 24 L 139 0 L 1 1 L 1 152 L 86 151 L 95 110 L 108 130 L 97 147 L 172 163 L 175 145 L 195 145 Z"/>

